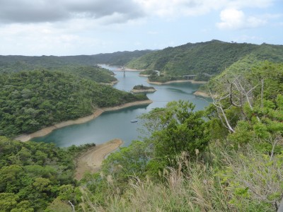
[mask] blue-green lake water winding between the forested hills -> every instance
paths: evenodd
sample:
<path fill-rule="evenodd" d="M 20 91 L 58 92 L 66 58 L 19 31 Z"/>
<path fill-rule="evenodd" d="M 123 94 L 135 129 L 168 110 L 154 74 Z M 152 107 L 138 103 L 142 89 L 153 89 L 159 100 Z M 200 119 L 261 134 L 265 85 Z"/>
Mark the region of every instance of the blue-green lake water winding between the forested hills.
<path fill-rule="evenodd" d="M 114 88 L 129 91 L 136 85 L 154 86 L 155 93 L 149 93 L 147 96 L 153 103 L 150 105 L 141 105 L 127 107 L 122 110 L 103 112 L 96 119 L 83 124 L 74 124 L 65 126 L 52 131 L 47 136 L 32 139 L 32 141 L 53 142 L 57 146 L 79 146 L 84 143 L 105 143 L 111 139 L 122 139 L 123 146 L 128 146 L 133 140 L 139 139 L 139 130 L 141 122 L 137 118 L 139 115 L 149 112 L 155 107 L 164 107 L 168 102 L 173 100 L 189 100 L 196 107 L 195 110 L 202 110 L 208 105 L 207 101 L 195 97 L 192 93 L 199 88 L 200 85 L 192 83 L 171 83 L 167 85 L 149 85 L 146 77 L 139 76 L 138 71 L 115 71 L 117 68 L 103 66 L 114 71 L 117 83 Z M 138 119 L 138 122 L 131 123 L 132 119 Z"/>

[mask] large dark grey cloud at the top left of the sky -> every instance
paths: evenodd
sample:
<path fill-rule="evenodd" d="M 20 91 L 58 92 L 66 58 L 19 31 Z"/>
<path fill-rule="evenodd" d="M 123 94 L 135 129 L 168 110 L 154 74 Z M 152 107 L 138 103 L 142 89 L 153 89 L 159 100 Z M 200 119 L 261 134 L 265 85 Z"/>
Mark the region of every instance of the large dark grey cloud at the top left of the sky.
<path fill-rule="evenodd" d="M 74 18 L 97 19 L 115 13 L 121 14 L 126 22 L 144 16 L 139 5 L 128 0 L 0 1 L 0 23 L 44 23 Z M 118 22 L 120 21 L 121 18 L 118 19 Z"/>

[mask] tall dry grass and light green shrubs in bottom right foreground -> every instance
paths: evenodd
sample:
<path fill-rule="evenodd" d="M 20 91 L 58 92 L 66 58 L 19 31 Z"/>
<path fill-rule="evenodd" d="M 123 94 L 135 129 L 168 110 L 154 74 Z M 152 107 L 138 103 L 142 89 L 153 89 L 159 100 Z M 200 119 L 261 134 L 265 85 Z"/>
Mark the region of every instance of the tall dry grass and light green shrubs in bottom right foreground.
<path fill-rule="evenodd" d="M 103 206 L 95 197 L 84 204 L 88 211 L 277 210 L 283 193 L 282 154 L 270 158 L 253 146 L 239 151 L 216 143 L 197 160 L 187 158 L 180 155 L 158 183 L 133 177 L 125 193 L 105 195 Z M 86 199 L 93 195 L 83 192 Z"/>

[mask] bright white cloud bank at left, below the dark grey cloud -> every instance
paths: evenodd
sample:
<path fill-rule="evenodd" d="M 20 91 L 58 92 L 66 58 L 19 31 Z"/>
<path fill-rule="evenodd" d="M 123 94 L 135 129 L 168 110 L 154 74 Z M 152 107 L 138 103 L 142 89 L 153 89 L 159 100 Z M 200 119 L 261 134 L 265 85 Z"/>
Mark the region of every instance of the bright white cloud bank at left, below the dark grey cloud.
<path fill-rule="evenodd" d="M 74 29 L 73 29 L 74 30 Z M 84 37 L 72 31 L 54 28 L 50 23 L 13 24 L 0 28 L 2 36 L 0 54 L 41 55 L 76 54 L 78 49 L 91 49 L 91 45 L 102 45 L 96 37 Z"/>

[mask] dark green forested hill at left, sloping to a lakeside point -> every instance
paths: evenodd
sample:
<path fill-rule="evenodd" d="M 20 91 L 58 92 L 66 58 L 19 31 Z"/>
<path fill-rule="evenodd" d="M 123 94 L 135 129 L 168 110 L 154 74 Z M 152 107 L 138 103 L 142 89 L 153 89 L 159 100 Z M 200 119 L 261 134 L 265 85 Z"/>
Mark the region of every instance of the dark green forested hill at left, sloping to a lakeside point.
<path fill-rule="evenodd" d="M 0 75 L 0 135 L 16 136 L 57 122 L 146 100 L 62 71 L 21 71 Z"/>

